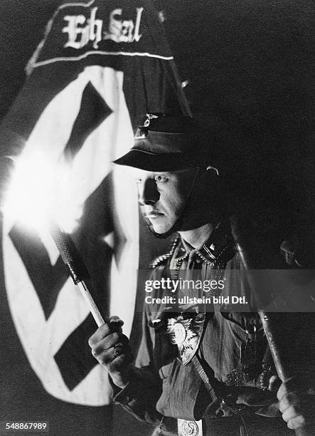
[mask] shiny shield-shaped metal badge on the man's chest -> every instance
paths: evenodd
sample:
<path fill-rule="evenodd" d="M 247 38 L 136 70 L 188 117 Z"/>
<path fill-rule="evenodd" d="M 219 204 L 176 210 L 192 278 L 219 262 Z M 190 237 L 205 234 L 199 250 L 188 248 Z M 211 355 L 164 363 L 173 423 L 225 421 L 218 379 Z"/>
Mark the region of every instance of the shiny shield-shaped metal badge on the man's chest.
<path fill-rule="evenodd" d="M 198 313 L 193 318 L 184 317 L 182 314 L 169 318 L 167 334 L 171 343 L 178 348 L 177 359 L 182 365 L 189 363 L 198 350 L 204 322 L 205 313 Z"/>

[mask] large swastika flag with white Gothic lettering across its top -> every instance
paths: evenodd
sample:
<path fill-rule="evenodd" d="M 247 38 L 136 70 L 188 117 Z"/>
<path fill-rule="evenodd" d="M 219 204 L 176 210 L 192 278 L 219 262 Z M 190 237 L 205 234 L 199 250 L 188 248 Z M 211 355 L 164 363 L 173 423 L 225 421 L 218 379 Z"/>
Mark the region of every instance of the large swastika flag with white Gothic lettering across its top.
<path fill-rule="evenodd" d="M 50 207 L 66 219 L 102 313 L 119 314 L 129 335 L 139 258 L 137 193 L 111 162 L 132 146 L 139 115 L 188 109 L 150 1 L 62 4 L 27 71 L 1 124 L 10 313 L 50 395 L 107 405 L 110 384 L 87 344 L 97 326 L 50 235 L 41 232 L 41 214 Z"/>

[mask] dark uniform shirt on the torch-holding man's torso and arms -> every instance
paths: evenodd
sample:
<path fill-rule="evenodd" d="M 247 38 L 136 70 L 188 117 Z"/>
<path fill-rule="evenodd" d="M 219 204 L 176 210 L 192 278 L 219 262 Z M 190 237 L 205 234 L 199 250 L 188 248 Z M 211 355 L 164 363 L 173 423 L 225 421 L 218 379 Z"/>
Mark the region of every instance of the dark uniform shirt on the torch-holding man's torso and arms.
<path fill-rule="evenodd" d="M 289 251 L 285 243 L 279 246 L 279 252 L 287 264 L 295 264 L 294 251 Z M 247 306 L 245 311 L 240 311 L 244 306 L 237 311 L 237 305 L 222 303 L 197 304 L 197 309 L 190 304 L 176 309 L 169 302 L 145 304 L 142 343 L 132 380 L 117 393 L 115 400 L 136 417 L 156 422 L 162 416 L 199 420 L 233 415 L 240 410 L 235 405 L 237 394 L 248 388 L 251 388 L 249 392 L 263 397 L 275 370 L 260 318 L 252 311 L 255 301 L 242 274 L 242 262 L 235 251 L 229 225 L 220 224 L 198 250 L 176 237 L 169 253 L 156 259 L 152 268 L 152 280 L 178 279 L 181 274 L 186 279 L 191 276 L 203 281 L 223 279 L 224 289 L 210 291 L 206 296 L 243 296 Z M 172 293 L 159 289 L 154 297 L 162 298 L 166 294 Z M 193 363 L 182 365 L 178 361 L 178 346 L 170 341 L 170 318 L 181 315 L 191 319 L 203 311 L 206 315 L 196 353 L 210 381 L 220 391 L 217 401 L 210 398 Z M 250 410 L 263 416 L 280 416 L 275 396 L 269 405 Z"/>

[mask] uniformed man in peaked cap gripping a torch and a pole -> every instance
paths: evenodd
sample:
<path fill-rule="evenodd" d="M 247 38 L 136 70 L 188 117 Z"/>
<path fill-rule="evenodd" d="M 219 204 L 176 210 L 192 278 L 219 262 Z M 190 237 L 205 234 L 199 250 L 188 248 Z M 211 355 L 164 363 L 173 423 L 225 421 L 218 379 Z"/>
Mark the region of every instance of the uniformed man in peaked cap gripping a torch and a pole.
<path fill-rule="evenodd" d="M 114 399 L 156 422 L 161 435 L 290 435 L 309 423 L 314 391 L 305 377 L 277 379 L 260 318 L 250 311 L 255 302 L 235 274 L 244 267 L 231 232 L 233 208 L 220 167 L 205 154 L 209 140 L 191 118 L 150 114 L 132 150 L 115 162 L 135 169 L 150 231 L 177 232 L 171 250 L 153 262 L 149 281 L 172 286 L 148 294 L 135 366 L 117 317 L 90 338 L 92 354 L 110 375 Z M 286 244 L 279 253 L 297 263 Z M 183 290 L 183 279 L 208 287 Z M 226 296 L 237 296 L 241 306 Z"/>

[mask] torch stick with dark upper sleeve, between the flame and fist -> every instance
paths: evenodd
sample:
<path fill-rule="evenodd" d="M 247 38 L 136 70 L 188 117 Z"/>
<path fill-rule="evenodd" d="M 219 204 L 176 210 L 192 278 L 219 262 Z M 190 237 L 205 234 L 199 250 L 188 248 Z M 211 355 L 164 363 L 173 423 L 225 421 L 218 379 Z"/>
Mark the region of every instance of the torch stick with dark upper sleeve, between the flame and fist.
<path fill-rule="evenodd" d="M 74 283 L 78 285 L 82 296 L 85 298 L 97 326 L 102 326 L 102 324 L 105 323 L 105 320 L 102 317 L 87 284 L 85 283 L 85 280 L 90 278 L 90 274 L 89 271 L 87 271 L 87 267 L 85 266 L 73 239 L 70 237 L 70 234 L 60 229 L 57 224 L 51 222 L 50 234 L 58 248 L 61 258 L 65 262 L 65 265 L 68 266 L 70 276 Z"/>

